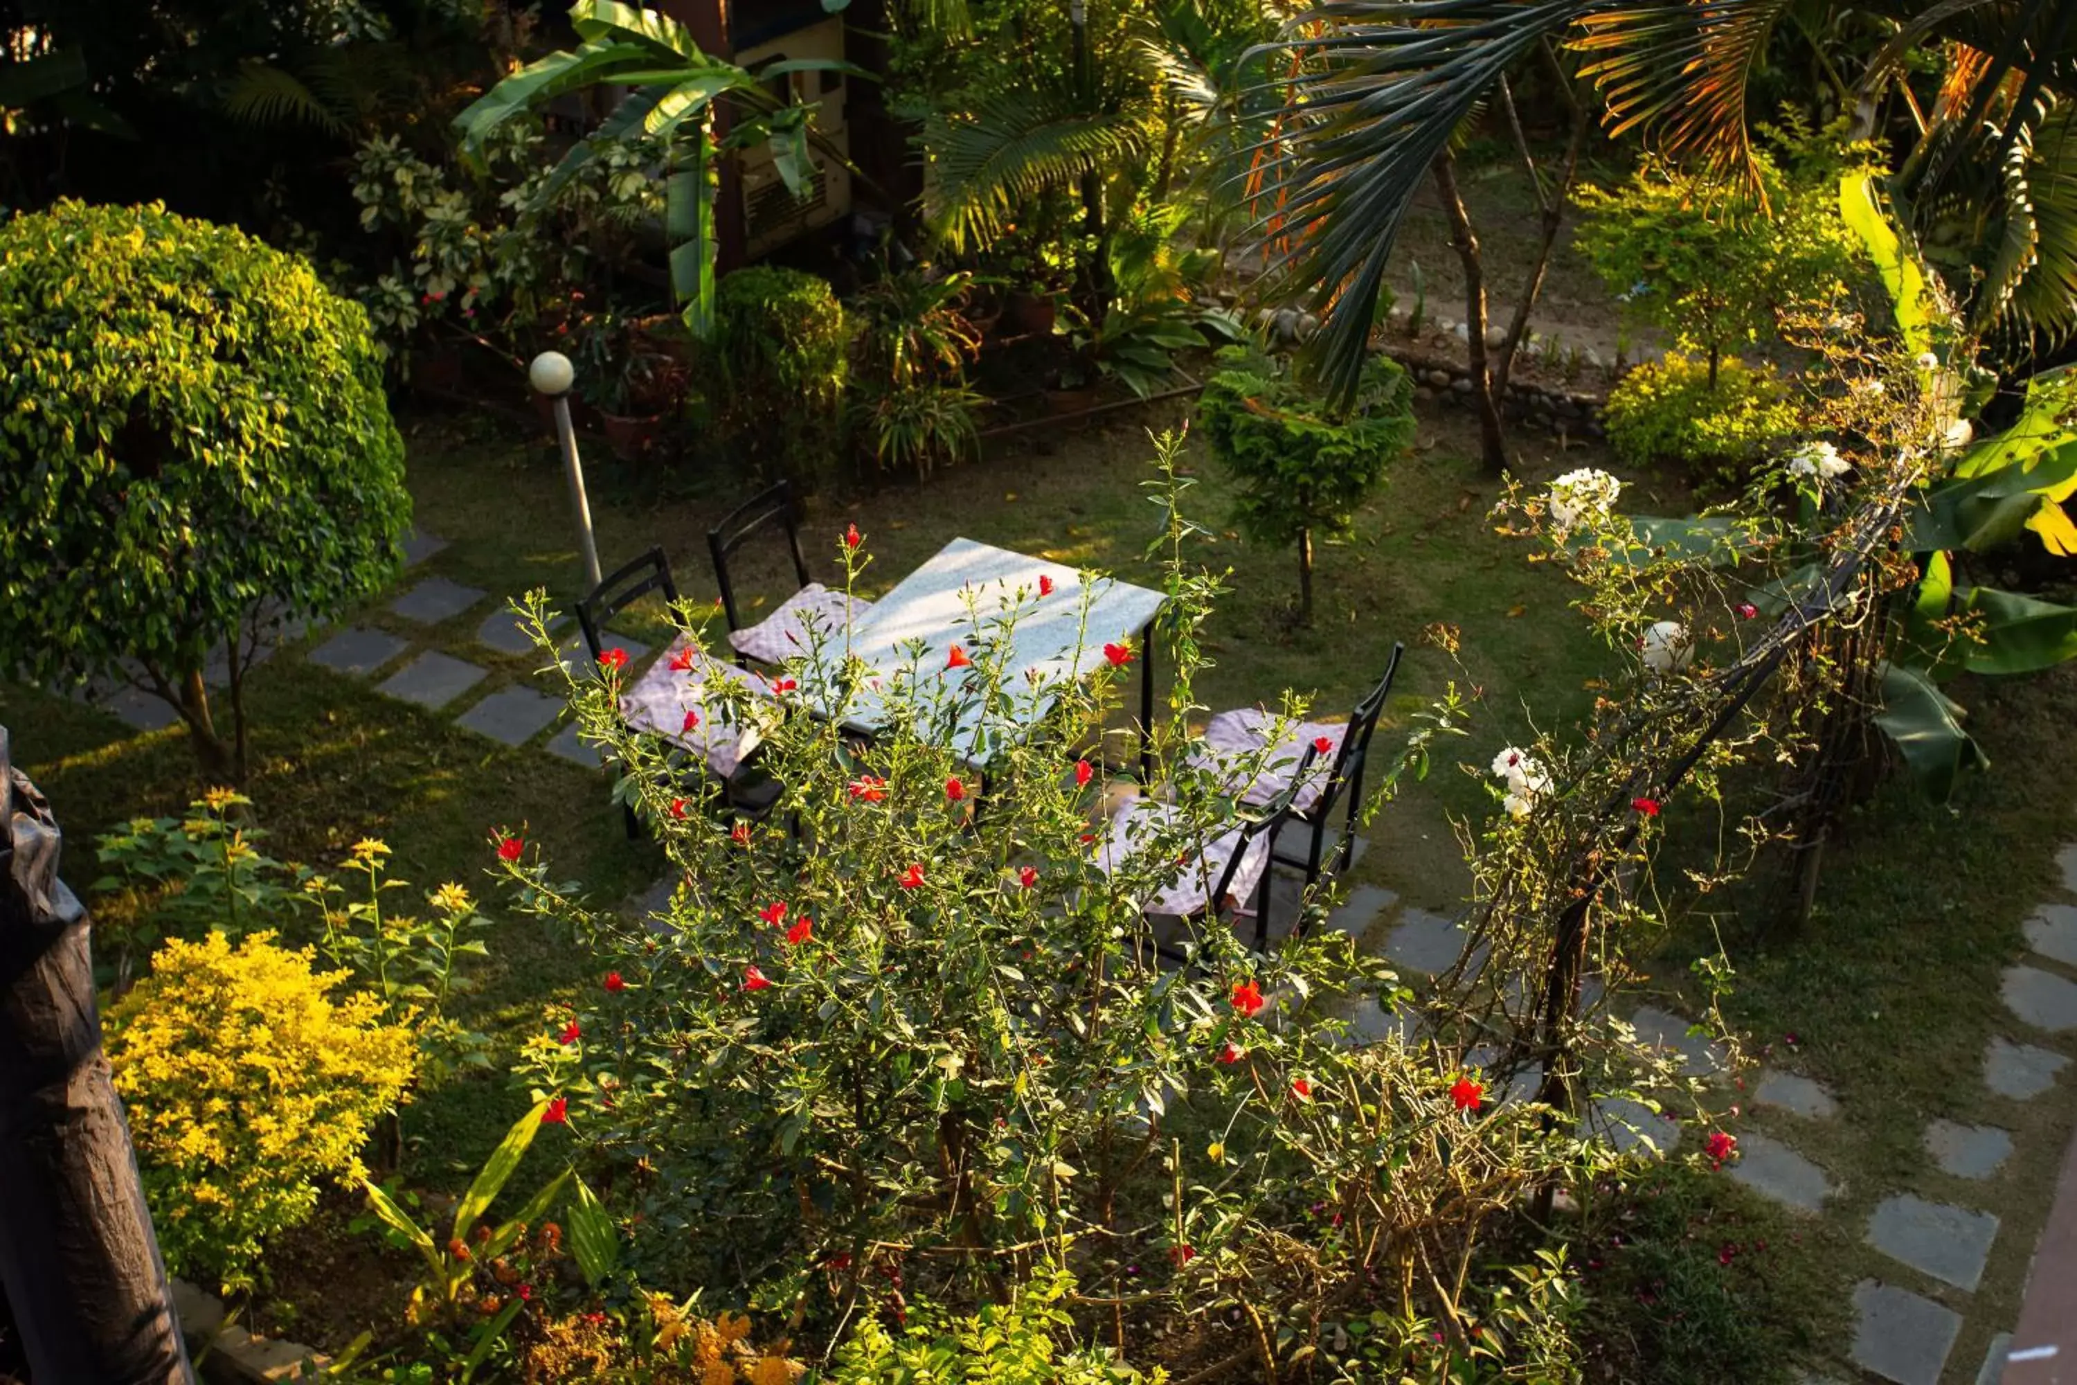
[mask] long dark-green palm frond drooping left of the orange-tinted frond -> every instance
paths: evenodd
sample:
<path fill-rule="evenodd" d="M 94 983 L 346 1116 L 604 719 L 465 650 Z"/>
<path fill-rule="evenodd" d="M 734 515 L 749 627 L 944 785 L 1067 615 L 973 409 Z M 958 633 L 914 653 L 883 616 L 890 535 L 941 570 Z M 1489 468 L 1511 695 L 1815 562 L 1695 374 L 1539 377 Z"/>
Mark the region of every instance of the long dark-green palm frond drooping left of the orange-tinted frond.
<path fill-rule="evenodd" d="M 1333 397 L 1354 395 L 1385 262 L 1429 164 L 1510 66 L 1606 2 L 1342 0 L 1286 39 L 1306 60 L 1292 100 L 1304 120 L 1296 150 L 1269 162 L 1277 216 L 1311 230 L 1277 278 L 1325 316 L 1313 351 Z"/>

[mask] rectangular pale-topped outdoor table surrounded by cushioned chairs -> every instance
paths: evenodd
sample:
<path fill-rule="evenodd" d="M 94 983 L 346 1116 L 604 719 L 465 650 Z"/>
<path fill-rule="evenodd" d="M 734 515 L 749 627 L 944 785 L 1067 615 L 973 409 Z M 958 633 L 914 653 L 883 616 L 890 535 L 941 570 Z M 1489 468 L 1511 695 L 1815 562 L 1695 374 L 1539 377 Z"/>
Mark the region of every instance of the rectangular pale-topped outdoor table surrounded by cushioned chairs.
<path fill-rule="evenodd" d="M 1041 577 L 1051 583 L 1043 588 Z M 1086 588 L 1086 590 L 1084 590 Z M 1041 596 L 1041 590 L 1047 594 Z M 1072 681 L 1105 662 L 1105 644 L 1132 644 L 1140 669 L 1140 725 L 1153 721 L 1153 619 L 1167 596 L 1115 577 L 1084 577 L 1074 567 L 1032 559 L 1022 552 L 955 538 L 922 567 L 872 602 L 849 631 L 831 631 L 818 660 L 800 675 L 802 696 L 822 716 L 847 731 L 872 735 L 887 727 L 891 685 L 914 671 L 912 696 L 922 698 L 930 679 L 972 677 L 972 669 L 951 669 L 951 648 L 960 646 L 980 662 L 980 646 L 1005 646 L 1005 689 L 1026 687 L 1026 679 Z M 845 656 L 864 664 L 852 696 L 839 691 Z M 941 743 L 970 762 L 987 760 L 1003 743 L 1022 739 L 1036 712 L 1051 698 L 1034 696 L 1018 718 L 1005 708 L 984 714 L 978 698 L 953 698 L 955 723 L 939 729 Z"/>

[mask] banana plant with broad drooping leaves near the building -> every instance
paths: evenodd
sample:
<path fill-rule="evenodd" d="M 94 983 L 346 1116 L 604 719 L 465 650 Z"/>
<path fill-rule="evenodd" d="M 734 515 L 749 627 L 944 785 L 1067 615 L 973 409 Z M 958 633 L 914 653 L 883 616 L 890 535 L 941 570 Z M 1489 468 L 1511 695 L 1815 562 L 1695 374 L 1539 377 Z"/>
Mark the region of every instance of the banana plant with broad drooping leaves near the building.
<path fill-rule="evenodd" d="M 814 166 L 810 145 L 845 162 L 814 129 L 814 106 L 781 102 L 764 83 L 789 73 L 845 73 L 870 77 L 860 66 L 831 58 L 798 58 L 756 73 L 706 54 L 685 25 L 658 10 L 619 0 L 577 0 L 569 23 L 584 39 L 532 62 L 455 116 L 465 158 L 480 158 L 484 141 L 507 120 L 544 102 L 590 87 L 631 87 L 588 139 L 577 141 L 538 193 L 552 199 L 596 154 L 638 137 L 660 139 L 669 150 L 665 172 L 665 241 L 671 293 L 685 326 L 706 338 L 714 326 L 714 191 L 717 160 L 733 150 L 766 143 L 779 176 L 795 197 L 806 197 Z M 727 100 L 733 116 L 725 137 L 714 133 L 714 104 Z"/>

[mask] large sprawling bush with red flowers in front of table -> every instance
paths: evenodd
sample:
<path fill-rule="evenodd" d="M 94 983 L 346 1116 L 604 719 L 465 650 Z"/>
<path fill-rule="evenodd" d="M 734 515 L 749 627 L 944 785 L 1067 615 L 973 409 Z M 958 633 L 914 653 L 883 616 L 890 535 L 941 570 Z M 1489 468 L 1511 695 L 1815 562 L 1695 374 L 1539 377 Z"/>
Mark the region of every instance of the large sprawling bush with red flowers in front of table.
<path fill-rule="evenodd" d="M 590 999 L 546 1017 L 525 1071 L 629 1219 L 644 1281 L 708 1285 L 835 1341 L 860 1314 L 899 1339 L 912 1294 L 966 1312 L 1066 1271 L 1070 1308 L 1101 1312 L 1107 1341 L 1128 1304 L 1161 1304 L 1186 1329 L 1163 1348 L 1178 1366 L 1298 1354 L 1356 1302 L 1468 1350 L 1485 1238 L 1518 1225 L 1527 1190 L 1599 1159 L 1570 1123 L 1495 1105 L 1460 1036 L 1356 1042 L 1340 1015 L 1406 993 L 1348 936 L 1290 936 L 1279 918 L 1257 953 L 1225 922 L 1149 924 L 1142 905 L 1186 887 L 1238 820 L 1225 785 L 1263 768 L 1188 762 L 1217 583 L 1186 569 L 1176 453 L 1165 440 L 1159 635 L 1176 677 L 1142 783 L 1103 764 L 1142 750 L 1117 712 L 1144 650 L 1066 654 L 1030 679 L 1009 667 L 1018 625 L 1049 604 L 1084 619 L 1095 575 L 970 592 L 957 644 L 916 644 L 897 671 L 845 664 L 831 629 L 777 702 L 714 679 L 708 718 L 754 735 L 781 785 L 762 820 L 625 729 L 621 667 L 571 681 L 681 885 L 625 918 L 561 882 L 523 824 L 496 856 L 519 907 L 596 955 Z M 835 548 L 856 581 L 870 542 Z M 690 654 L 673 664 L 700 679 Z M 837 689 L 835 714 L 802 706 L 816 687 Z M 868 708 L 870 741 L 837 729 Z M 1387 783 L 1425 764 L 1456 708 L 1417 725 Z M 1111 841 L 1109 810 L 1134 797 L 1163 824 Z M 1552 1339 L 1535 1348 L 1549 1379 L 1570 1370 L 1562 1331 L 1487 1331 Z"/>

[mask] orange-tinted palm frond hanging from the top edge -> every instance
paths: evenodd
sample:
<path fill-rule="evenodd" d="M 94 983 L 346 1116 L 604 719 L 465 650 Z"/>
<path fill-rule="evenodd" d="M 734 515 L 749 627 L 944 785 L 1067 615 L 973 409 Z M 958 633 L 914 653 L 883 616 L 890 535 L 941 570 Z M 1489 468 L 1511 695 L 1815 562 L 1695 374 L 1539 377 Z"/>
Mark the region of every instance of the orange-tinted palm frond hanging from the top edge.
<path fill-rule="evenodd" d="M 1761 193 L 1747 91 L 1788 0 L 1651 0 L 1581 19 L 1570 48 L 1612 135 L 1641 131 L 1676 164 Z"/>

